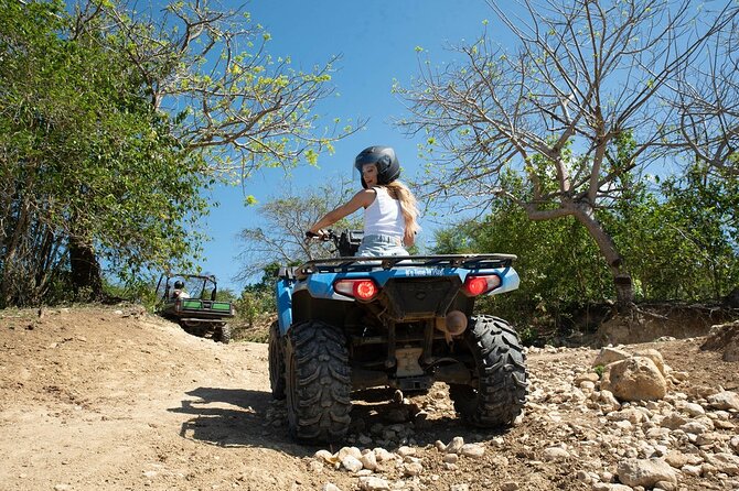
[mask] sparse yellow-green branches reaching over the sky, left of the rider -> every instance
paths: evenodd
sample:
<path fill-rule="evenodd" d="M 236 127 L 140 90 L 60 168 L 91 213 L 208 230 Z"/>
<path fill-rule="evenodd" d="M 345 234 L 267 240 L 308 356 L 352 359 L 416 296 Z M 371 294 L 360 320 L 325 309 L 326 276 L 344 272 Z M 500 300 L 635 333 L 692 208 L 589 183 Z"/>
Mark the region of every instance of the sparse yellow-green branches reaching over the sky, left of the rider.
<path fill-rule="evenodd" d="M 289 56 L 267 52 L 270 35 L 248 12 L 216 1 L 172 1 L 161 11 L 130 3 L 87 0 L 77 26 L 103 24 L 138 72 L 143 95 L 171 116 L 174 137 L 212 168 L 245 179 L 263 166 L 314 164 L 364 124 L 319 124 L 317 105 L 333 92 L 338 56 L 310 70 L 293 67 Z"/>

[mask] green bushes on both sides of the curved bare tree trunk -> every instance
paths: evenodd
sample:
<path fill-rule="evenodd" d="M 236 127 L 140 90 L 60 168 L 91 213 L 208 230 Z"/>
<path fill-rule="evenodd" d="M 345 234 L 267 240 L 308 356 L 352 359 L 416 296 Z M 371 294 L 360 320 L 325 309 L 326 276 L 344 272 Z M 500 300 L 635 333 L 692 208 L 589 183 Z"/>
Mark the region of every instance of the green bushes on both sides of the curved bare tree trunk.
<path fill-rule="evenodd" d="M 623 251 L 636 299 L 720 299 L 736 286 L 736 176 L 715 176 L 695 167 L 652 192 L 646 181 L 628 172 L 620 181 L 622 199 L 599 210 L 598 217 Z M 521 275 L 520 288 L 480 298 L 476 308 L 514 321 L 527 339 L 540 341 L 596 327 L 587 320 L 588 314 L 598 305 L 607 312 L 613 296 L 610 272 L 598 248 L 571 217 L 532 221 L 521 208 L 495 201 L 482 222 L 459 223 L 436 237 L 437 253 L 518 255 L 514 266 Z M 598 316 L 591 318 L 598 320 Z"/>

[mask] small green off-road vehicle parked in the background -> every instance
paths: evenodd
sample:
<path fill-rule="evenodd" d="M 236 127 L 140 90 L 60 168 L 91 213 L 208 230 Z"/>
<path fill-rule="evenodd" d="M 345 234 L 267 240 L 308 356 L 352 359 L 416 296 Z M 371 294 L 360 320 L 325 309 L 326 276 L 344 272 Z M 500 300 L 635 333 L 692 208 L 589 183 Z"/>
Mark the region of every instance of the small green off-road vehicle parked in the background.
<path fill-rule="evenodd" d="M 215 276 L 163 274 L 157 284 L 157 313 L 186 332 L 228 343 L 228 320 L 236 314 L 231 302 L 217 301 Z"/>

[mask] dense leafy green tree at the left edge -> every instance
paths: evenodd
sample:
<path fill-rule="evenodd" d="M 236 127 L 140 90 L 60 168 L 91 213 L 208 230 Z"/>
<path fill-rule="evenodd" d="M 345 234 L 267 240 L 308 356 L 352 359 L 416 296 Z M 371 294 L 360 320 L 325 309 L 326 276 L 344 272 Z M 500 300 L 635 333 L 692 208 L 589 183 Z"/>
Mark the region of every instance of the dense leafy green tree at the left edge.
<path fill-rule="evenodd" d="M 128 281 L 199 251 L 202 156 L 172 138 L 103 25 L 77 28 L 61 2 L 0 4 L 2 305 L 68 284 L 73 239 Z"/>

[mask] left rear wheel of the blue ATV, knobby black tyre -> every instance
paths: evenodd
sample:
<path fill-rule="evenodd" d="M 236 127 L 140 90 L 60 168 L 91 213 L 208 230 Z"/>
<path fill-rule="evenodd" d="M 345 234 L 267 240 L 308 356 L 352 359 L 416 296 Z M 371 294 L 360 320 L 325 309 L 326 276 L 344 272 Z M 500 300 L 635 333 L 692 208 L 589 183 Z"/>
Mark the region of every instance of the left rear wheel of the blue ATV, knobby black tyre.
<path fill-rule="evenodd" d="M 320 320 L 296 324 L 286 349 L 288 429 L 301 441 L 344 438 L 352 408 L 352 379 L 341 329 Z"/>

